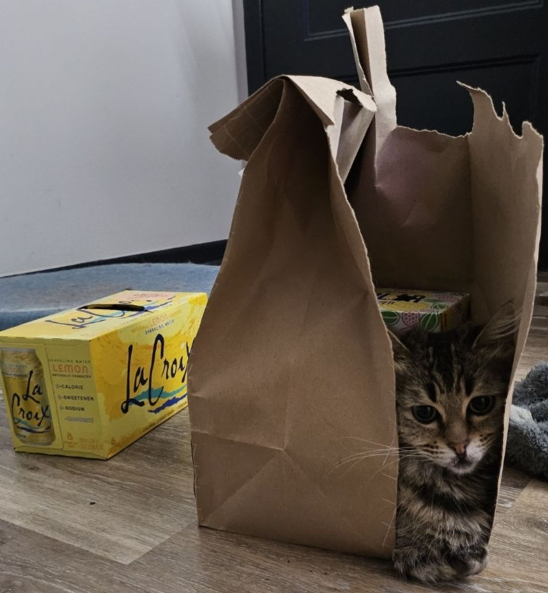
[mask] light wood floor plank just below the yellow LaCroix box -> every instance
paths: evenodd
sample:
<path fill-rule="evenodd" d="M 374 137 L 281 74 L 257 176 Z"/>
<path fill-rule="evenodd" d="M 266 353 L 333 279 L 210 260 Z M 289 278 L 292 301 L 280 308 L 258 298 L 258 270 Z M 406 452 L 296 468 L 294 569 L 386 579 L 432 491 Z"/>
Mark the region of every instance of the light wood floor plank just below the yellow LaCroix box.
<path fill-rule="evenodd" d="M 132 562 L 195 516 L 189 428 L 181 420 L 101 461 L 13 452 L 2 410 L 0 517 Z"/>

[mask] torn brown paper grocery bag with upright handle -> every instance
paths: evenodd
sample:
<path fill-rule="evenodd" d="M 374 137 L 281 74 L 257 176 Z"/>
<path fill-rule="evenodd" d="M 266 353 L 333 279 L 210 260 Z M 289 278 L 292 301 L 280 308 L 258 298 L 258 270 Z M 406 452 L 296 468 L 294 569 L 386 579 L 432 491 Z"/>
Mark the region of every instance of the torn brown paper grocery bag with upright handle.
<path fill-rule="evenodd" d="M 543 142 L 471 88 L 468 135 L 397 126 L 380 11 L 344 18 L 361 92 L 282 76 L 211 126 L 247 166 L 190 365 L 195 492 L 200 525 L 390 557 L 397 454 L 359 455 L 397 445 L 374 284 L 470 292 L 479 322 L 512 299 L 517 360 Z"/>

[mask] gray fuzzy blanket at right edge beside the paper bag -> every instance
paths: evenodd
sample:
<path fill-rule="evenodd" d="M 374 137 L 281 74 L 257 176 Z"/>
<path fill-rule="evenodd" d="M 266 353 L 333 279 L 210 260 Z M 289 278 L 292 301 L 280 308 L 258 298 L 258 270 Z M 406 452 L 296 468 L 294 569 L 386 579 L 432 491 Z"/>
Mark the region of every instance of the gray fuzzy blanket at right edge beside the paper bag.
<path fill-rule="evenodd" d="M 506 458 L 548 480 L 548 362 L 535 366 L 515 385 Z"/>

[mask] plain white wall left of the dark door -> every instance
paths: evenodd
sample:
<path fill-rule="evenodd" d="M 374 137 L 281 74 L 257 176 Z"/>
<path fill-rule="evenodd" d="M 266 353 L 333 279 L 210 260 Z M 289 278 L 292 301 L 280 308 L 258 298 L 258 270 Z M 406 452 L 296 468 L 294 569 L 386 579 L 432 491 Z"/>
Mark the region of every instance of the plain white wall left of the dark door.
<path fill-rule="evenodd" d="M 232 0 L 0 0 L 0 275 L 226 238 L 235 60 Z"/>

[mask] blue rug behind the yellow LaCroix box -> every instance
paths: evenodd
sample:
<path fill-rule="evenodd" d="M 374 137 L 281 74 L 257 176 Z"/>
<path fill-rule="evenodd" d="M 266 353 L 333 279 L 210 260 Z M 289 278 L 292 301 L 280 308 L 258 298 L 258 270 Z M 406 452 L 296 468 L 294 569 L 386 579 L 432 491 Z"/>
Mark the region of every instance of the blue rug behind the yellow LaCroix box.
<path fill-rule="evenodd" d="M 218 266 L 129 263 L 0 278 L 0 330 L 125 289 L 211 292 Z"/>

